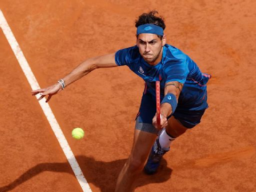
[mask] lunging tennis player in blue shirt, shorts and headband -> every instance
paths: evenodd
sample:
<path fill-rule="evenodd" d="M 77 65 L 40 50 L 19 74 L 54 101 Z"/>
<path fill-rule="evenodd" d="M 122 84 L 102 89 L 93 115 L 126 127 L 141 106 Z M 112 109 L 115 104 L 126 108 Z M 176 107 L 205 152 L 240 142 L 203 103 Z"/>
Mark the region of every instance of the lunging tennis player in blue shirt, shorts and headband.
<path fill-rule="evenodd" d="M 200 122 L 207 105 L 206 83 L 210 75 L 174 46 L 166 44 L 165 24 L 157 11 L 136 20 L 136 45 L 115 53 L 89 58 L 57 83 L 42 89 L 40 100 L 50 97 L 96 68 L 127 65 L 144 79 L 145 88 L 136 116 L 131 154 L 117 178 L 115 191 L 133 191 L 134 180 L 143 169 L 155 173 L 170 143 Z M 155 81 L 160 81 L 160 129 L 156 124 Z M 147 160 L 147 161 L 146 161 Z M 146 163 L 145 163 L 146 162 Z"/>

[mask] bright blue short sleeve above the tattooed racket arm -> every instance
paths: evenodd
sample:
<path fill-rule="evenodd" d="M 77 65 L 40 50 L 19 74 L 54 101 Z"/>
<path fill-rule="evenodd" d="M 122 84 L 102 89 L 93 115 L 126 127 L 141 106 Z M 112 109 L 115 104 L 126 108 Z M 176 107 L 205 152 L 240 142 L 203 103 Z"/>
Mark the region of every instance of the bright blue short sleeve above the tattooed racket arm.
<path fill-rule="evenodd" d="M 166 82 L 178 81 L 184 83 L 189 72 L 185 59 L 168 61 L 164 67 Z"/>

